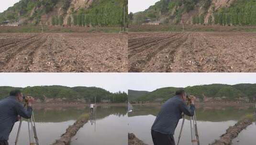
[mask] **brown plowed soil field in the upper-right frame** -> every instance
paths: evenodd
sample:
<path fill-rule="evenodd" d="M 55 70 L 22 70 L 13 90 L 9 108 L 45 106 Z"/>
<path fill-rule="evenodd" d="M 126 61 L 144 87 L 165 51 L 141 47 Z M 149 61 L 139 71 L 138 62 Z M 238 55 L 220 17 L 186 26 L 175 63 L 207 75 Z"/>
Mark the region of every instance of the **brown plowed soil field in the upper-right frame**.
<path fill-rule="evenodd" d="M 256 72 L 256 33 L 129 33 L 129 72 Z"/>

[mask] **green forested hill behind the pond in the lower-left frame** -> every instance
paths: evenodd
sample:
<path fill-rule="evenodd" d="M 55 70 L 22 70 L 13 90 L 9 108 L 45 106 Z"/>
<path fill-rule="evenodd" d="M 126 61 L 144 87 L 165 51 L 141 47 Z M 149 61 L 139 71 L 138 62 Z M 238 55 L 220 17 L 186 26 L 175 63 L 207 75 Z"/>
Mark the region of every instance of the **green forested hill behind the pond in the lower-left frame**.
<path fill-rule="evenodd" d="M 111 93 L 97 87 L 66 87 L 66 86 L 34 86 L 14 88 L 10 86 L 0 87 L 0 99 L 7 97 L 11 90 L 20 89 L 24 95 L 33 96 L 36 99 L 47 101 L 91 101 L 96 102 L 109 100 L 111 103 L 125 103 L 127 93 Z"/>

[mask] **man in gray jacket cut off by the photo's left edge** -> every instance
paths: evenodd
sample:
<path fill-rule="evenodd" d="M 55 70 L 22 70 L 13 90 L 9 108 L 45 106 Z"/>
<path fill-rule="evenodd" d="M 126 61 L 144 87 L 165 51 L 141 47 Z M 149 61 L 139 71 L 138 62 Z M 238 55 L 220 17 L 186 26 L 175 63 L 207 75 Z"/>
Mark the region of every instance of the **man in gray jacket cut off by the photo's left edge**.
<path fill-rule="evenodd" d="M 25 109 L 20 90 L 11 91 L 9 97 L 0 100 L 0 145 L 8 145 L 12 127 L 20 117 L 31 118 L 33 101 L 33 98 L 28 99 L 28 107 Z"/>

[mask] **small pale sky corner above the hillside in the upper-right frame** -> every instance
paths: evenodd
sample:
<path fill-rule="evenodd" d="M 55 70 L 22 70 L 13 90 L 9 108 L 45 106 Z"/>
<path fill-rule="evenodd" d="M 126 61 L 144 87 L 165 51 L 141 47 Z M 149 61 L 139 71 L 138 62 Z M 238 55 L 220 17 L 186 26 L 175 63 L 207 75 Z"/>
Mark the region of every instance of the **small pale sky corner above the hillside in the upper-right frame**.
<path fill-rule="evenodd" d="M 128 11 L 130 12 L 138 12 L 138 11 L 144 11 L 149 6 L 154 5 L 159 0 L 128 0 Z"/>

